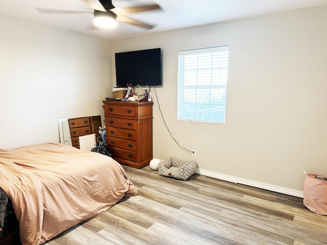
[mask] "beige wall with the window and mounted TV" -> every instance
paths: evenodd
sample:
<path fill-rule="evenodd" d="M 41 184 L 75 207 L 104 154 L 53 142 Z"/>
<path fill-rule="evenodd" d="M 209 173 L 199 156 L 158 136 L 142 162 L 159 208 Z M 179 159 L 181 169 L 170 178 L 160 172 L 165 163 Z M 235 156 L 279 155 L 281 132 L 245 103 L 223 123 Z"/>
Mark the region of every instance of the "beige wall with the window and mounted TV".
<path fill-rule="evenodd" d="M 162 48 L 159 104 L 172 135 L 196 157 L 170 137 L 151 89 L 154 157 L 196 160 L 212 176 L 295 192 L 303 170 L 327 175 L 325 23 L 327 8 L 319 7 L 112 41 L 112 60 L 115 52 Z M 177 120 L 177 52 L 220 45 L 230 46 L 226 124 Z"/>

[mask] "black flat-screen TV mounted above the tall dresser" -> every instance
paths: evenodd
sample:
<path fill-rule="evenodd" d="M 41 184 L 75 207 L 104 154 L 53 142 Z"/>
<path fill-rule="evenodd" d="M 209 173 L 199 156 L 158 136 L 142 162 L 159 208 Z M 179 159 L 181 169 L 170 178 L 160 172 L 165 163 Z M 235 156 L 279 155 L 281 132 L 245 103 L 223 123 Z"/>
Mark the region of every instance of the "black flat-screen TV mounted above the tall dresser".
<path fill-rule="evenodd" d="M 161 49 L 115 53 L 116 85 L 160 86 Z"/>

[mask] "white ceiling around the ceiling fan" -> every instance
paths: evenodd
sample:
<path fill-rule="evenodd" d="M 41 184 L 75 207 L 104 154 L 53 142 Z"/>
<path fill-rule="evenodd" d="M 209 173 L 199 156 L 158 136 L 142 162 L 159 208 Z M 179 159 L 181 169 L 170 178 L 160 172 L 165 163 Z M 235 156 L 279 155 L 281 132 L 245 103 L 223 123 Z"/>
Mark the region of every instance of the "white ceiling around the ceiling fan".
<path fill-rule="evenodd" d="M 151 0 L 112 0 L 115 7 L 153 4 Z M 155 0 L 162 10 L 130 17 L 156 25 L 151 30 L 119 23 L 114 29 L 96 29 L 92 14 L 40 14 L 37 8 L 92 12 L 82 0 L 0 0 L 0 14 L 106 39 L 120 39 L 203 24 L 248 18 L 327 5 L 327 0 Z"/>

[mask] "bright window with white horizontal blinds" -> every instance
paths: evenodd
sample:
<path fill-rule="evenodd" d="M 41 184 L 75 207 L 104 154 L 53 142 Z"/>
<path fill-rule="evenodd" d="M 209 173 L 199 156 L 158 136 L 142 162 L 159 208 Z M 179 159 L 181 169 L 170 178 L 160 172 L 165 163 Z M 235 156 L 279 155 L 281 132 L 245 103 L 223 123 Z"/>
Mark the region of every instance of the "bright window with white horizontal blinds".
<path fill-rule="evenodd" d="M 225 123 L 229 46 L 178 52 L 177 119 Z"/>

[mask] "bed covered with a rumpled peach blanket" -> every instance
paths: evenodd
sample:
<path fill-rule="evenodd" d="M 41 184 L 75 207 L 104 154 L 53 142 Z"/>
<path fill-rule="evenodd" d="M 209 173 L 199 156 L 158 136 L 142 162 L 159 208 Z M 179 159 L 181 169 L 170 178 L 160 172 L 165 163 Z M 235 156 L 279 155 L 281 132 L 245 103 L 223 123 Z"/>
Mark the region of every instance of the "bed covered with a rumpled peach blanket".
<path fill-rule="evenodd" d="M 0 173 L 0 244 L 17 230 L 21 244 L 42 244 L 137 195 L 118 162 L 59 143 L 0 149 Z"/>

